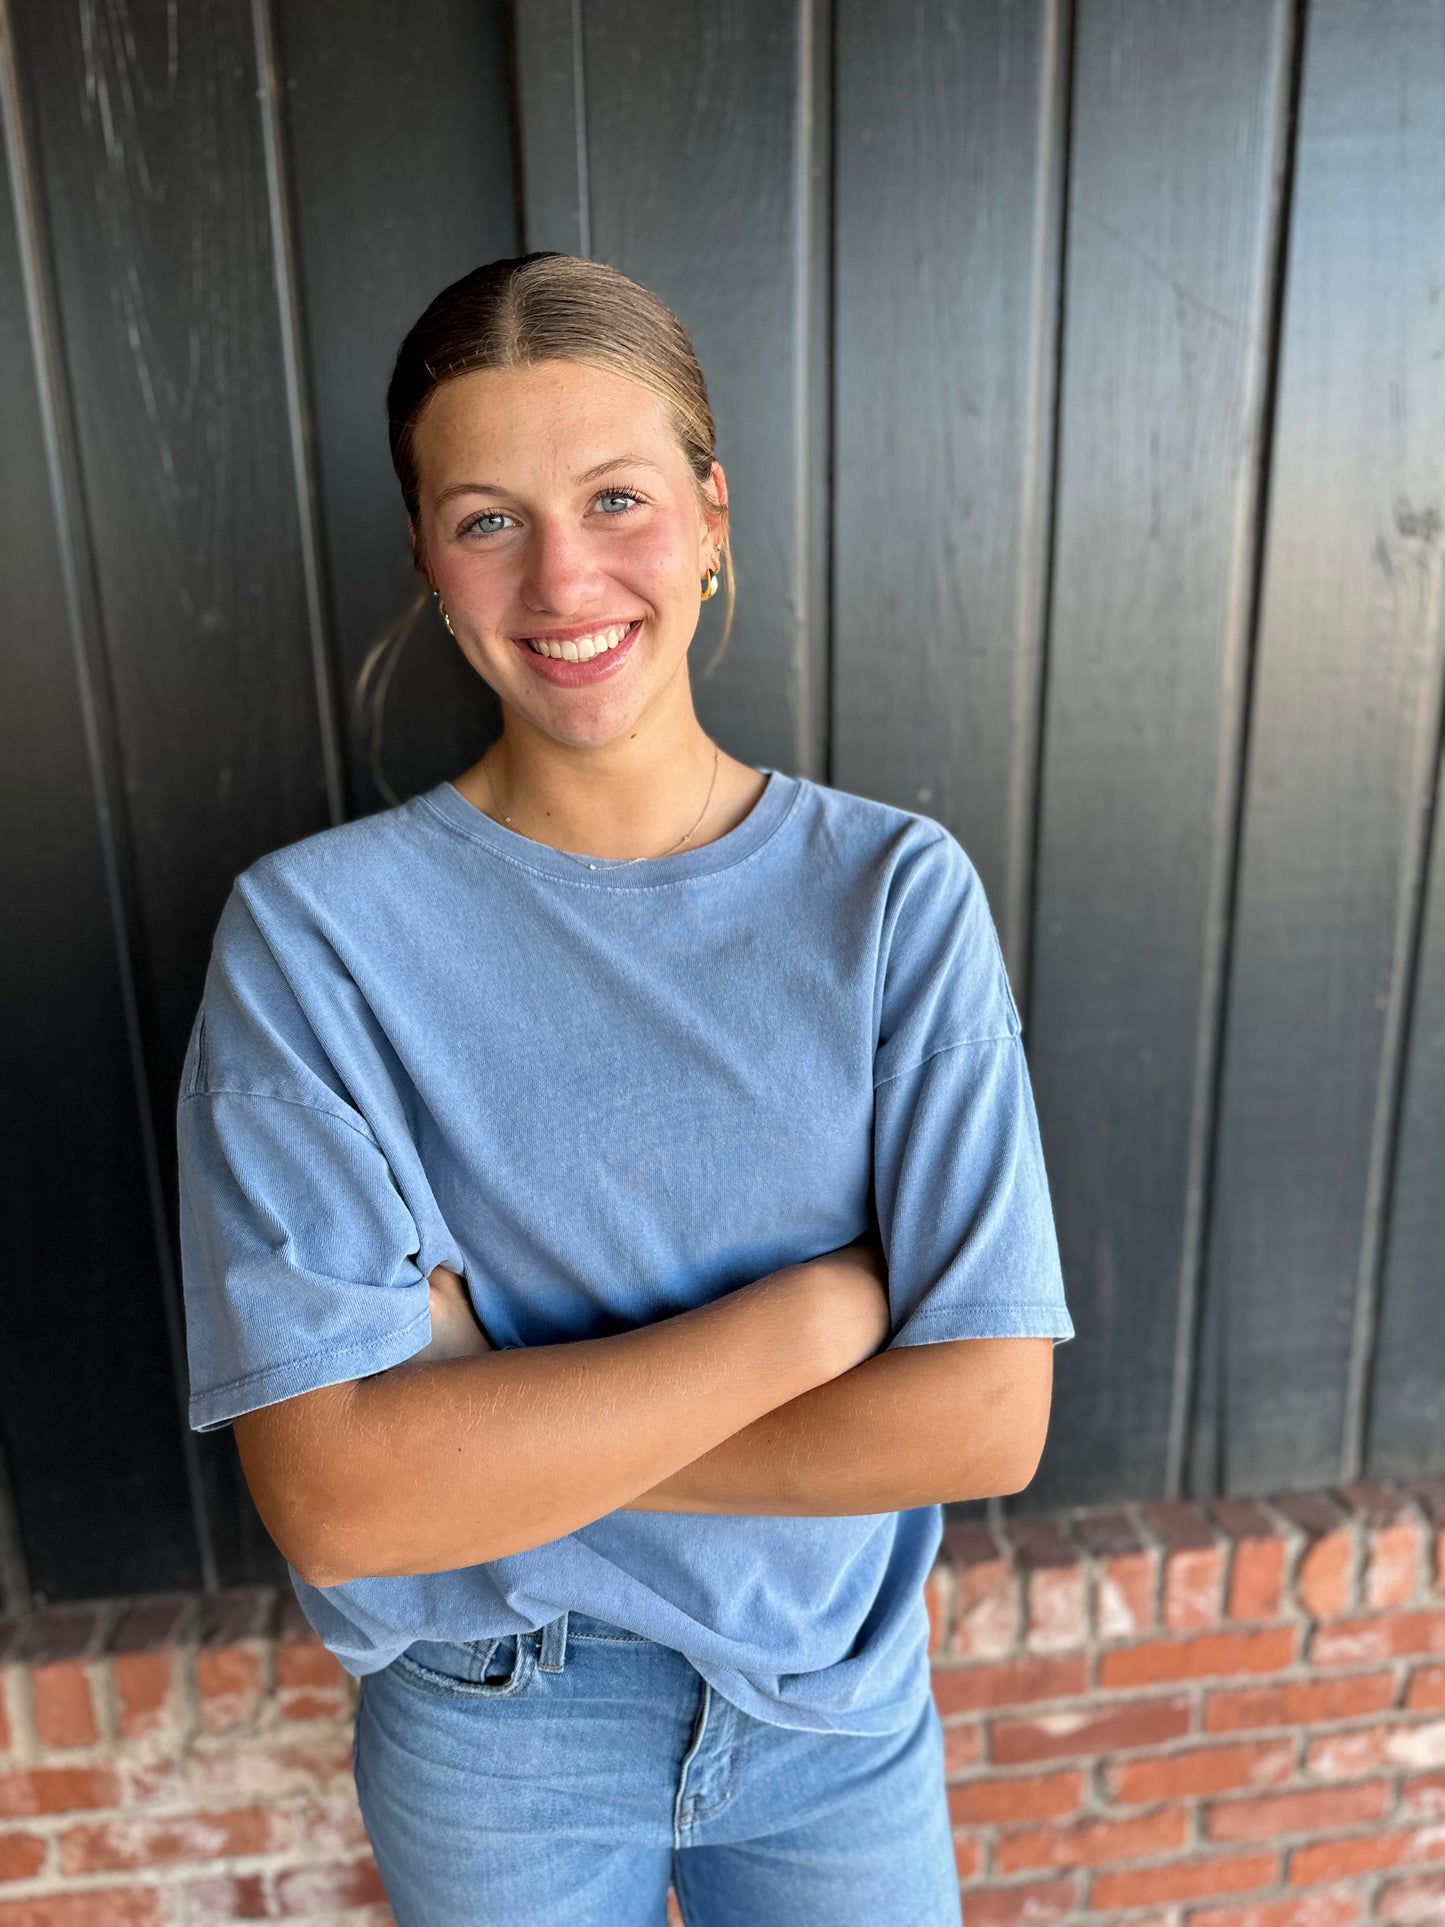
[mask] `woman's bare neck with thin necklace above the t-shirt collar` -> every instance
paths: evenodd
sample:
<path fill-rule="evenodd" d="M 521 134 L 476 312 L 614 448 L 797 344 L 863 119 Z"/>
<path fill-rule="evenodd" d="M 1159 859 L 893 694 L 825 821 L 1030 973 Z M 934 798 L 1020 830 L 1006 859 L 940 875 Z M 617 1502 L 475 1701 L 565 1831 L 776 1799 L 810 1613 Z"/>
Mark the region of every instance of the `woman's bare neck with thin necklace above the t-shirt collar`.
<path fill-rule="evenodd" d="M 617 742 L 565 744 L 503 703 L 503 734 L 457 788 L 520 836 L 613 861 L 719 836 L 719 765 L 692 705 L 670 721 L 644 717 Z"/>

